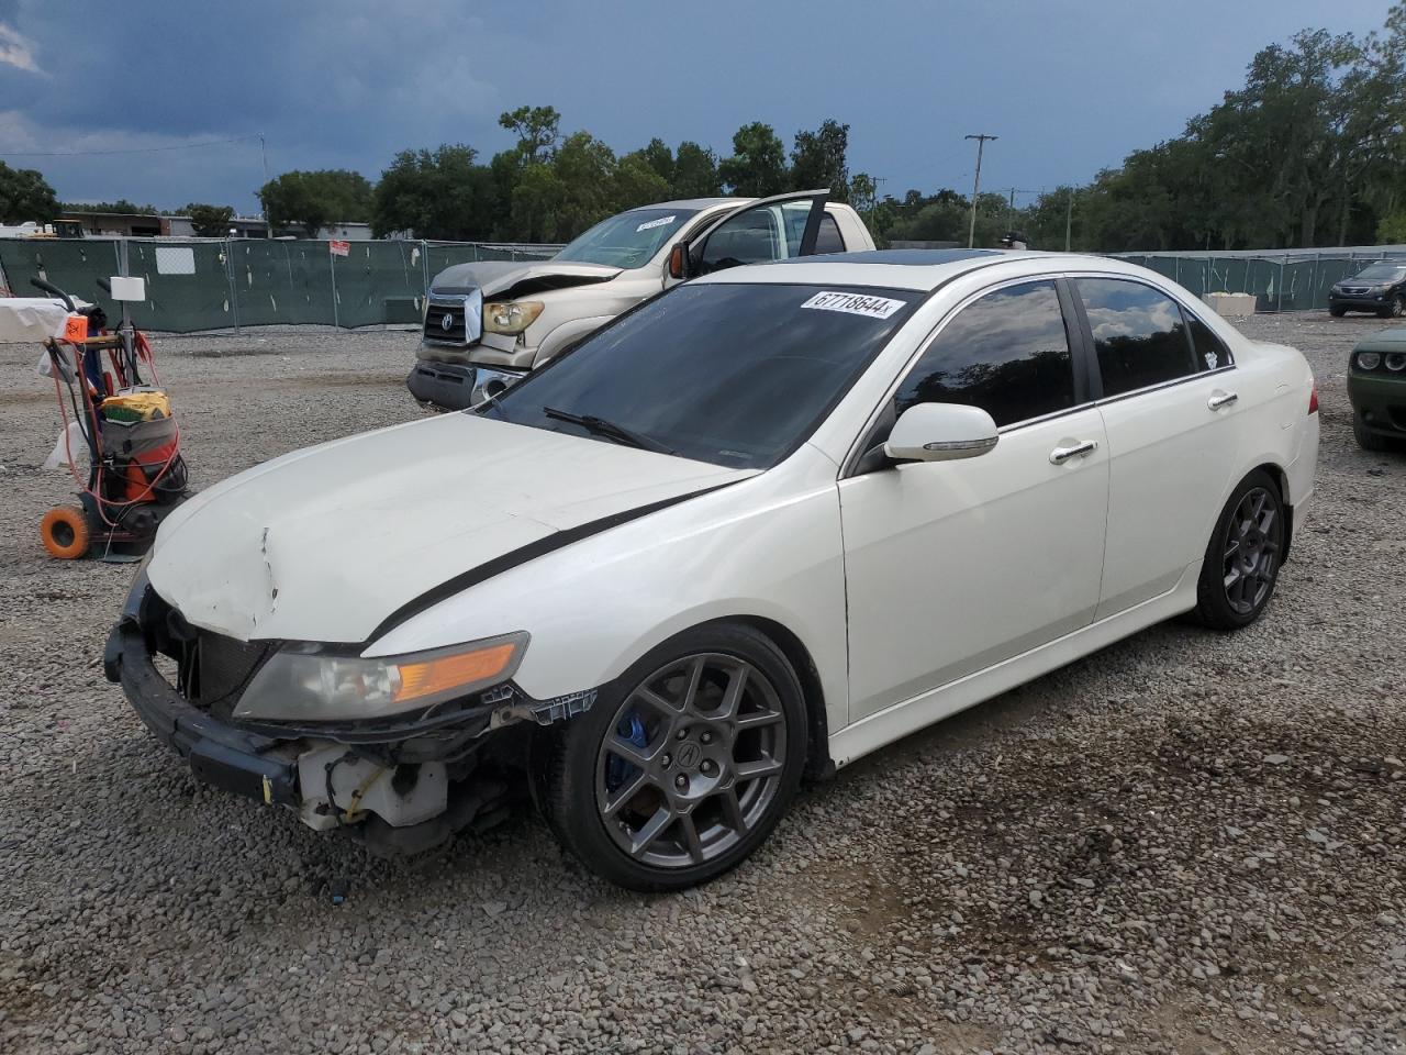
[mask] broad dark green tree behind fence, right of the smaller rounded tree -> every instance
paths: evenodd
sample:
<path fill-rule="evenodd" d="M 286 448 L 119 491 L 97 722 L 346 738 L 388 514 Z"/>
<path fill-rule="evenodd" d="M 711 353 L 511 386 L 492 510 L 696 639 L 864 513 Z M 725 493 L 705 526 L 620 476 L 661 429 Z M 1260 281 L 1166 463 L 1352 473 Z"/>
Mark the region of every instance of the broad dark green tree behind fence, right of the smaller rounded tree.
<path fill-rule="evenodd" d="M 501 207 L 494 172 L 475 165 L 463 143 L 401 151 L 381 173 L 371 207 L 371 234 L 409 231 L 415 238 L 472 242 L 494 238 Z"/>

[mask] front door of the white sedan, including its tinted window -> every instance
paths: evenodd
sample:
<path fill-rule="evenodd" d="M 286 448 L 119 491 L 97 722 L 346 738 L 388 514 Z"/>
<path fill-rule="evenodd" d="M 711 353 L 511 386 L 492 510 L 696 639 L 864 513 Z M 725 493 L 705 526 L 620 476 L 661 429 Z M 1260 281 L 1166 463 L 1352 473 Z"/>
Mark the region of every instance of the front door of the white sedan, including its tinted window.
<path fill-rule="evenodd" d="M 1070 332 L 1053 280 L 973 300 L 893 409 L 981 407 L 1001 426 L 995 449 L 841 481 L 851 722 L 1092 620 L 1108 453 Z"/>

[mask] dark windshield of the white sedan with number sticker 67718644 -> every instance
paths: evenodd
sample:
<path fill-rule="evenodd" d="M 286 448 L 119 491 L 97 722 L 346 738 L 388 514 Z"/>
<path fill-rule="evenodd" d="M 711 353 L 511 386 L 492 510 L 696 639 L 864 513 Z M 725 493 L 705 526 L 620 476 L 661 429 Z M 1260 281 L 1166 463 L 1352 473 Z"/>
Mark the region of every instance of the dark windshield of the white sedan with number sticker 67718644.
<path fill-rule="evenodd" d="M 921 300 L 852 286 L 679 286 L 479 411 L 769 468 L 810 436 Z"/>

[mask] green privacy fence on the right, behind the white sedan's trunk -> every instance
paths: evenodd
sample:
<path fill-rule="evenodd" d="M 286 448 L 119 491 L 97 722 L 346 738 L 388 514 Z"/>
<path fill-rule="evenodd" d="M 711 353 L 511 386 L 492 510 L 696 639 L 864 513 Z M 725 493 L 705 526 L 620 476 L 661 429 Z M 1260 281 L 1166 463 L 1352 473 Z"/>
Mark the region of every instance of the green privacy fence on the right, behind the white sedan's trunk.
<path fill-rule="evenodd" d="M 1256 311 L 1327 308 L 1333 283 L 1357 274 L 1374 260 L 1406 263 L 1406 246 L 1355 246 L 1324 252 L 1229 253 L 1116 253 L 1142 264 L 1198 297 L 1208 293 L 1249 293 Z"/>

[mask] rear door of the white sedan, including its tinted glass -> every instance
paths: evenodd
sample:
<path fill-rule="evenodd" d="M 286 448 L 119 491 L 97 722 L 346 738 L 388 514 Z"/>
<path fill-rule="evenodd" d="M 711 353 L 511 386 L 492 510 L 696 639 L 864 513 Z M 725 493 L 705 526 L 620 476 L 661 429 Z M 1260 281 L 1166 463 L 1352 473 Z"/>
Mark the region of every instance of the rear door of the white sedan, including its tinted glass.
<path fill-rule="evenodd" d="M 1161 290 L 1070 280 L 1108 433 L 1108 540 L 1097 619 L 1177 585 L 1229 487 L 1243 407 L 1230 352 Z"/>

